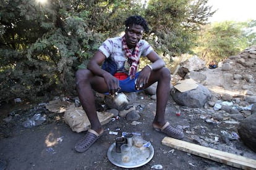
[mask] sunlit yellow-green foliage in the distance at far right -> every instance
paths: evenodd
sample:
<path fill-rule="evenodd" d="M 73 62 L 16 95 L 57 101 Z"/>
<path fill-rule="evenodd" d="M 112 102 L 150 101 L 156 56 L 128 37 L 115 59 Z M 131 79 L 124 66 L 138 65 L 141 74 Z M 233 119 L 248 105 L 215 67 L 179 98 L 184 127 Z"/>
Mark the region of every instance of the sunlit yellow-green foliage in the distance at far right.
<path fill-rule="evenodd" d="M 255 44 L 255 21 L 216 22 L 203 27 L 194 51 L 200 58 L 210 62 L 236 55 Z"/>

